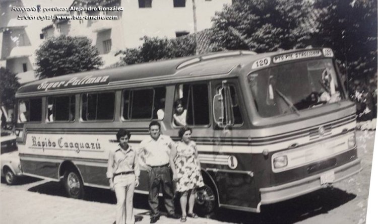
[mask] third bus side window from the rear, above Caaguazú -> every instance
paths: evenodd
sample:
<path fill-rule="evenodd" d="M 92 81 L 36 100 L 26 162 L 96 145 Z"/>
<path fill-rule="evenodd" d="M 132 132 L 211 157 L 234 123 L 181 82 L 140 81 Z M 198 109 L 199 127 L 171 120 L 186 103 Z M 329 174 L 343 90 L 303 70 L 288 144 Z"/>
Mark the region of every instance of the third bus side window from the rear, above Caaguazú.
<path fill-rule="evenodd" d="M 113 120 L 114 93 L 83 94 L 82 114 L 84 121 Z"/>

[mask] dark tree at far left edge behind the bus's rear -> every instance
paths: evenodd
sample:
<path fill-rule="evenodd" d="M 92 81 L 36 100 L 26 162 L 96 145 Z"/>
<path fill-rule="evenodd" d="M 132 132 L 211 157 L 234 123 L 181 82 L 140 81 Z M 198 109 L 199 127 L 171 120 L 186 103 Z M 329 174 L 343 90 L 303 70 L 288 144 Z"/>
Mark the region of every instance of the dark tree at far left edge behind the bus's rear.
<path fill-rule="evenodd" d="M 0 67 L 0 91 L 2 106 L 13 108 L 15 104 L 15 94 L 20 87 L 19 78 L 8 68 Z"/>

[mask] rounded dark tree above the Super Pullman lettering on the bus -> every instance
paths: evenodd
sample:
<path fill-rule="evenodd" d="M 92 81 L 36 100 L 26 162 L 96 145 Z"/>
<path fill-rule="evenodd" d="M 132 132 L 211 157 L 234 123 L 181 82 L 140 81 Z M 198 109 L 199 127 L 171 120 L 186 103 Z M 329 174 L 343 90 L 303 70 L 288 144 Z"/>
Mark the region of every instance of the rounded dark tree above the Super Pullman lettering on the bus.
<path fill-rule="evenodd" d="M 36 51 L 40 79 L 98 69 L 103 64 L 96 47 L 86 37 L 61 35 L 47 39 Z"/>

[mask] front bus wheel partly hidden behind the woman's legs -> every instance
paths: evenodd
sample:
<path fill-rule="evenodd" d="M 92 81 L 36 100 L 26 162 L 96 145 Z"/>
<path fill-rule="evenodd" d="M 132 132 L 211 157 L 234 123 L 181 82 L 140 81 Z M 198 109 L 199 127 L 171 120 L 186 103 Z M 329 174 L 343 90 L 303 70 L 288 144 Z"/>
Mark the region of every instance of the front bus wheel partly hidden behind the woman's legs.
<path fill-rule="evenodd" d="M 218 198 L 215 188 L 210 181 L 205 180 L 205 186 L 196 191 L 196 212 L 201 215 L 210 215 L 218 208 Z"/>

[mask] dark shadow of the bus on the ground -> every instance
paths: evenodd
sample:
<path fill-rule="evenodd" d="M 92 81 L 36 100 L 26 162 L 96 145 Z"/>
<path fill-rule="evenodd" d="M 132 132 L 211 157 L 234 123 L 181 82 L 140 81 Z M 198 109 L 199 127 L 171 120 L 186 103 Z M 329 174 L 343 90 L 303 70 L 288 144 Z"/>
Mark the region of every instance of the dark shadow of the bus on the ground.
<path fill-rule="evenodd" d="M 53 181 L 32 187 L 29 191 L 66 197 L 64 187 L 60 183 Z M 208 217 L 233 223 L 295 223 L 312 216 L 328 213 L 328 211 L 347 203 L 355 197 L 355 194 L 350 194 L 337 188 L 327 188 L 284 202 L 263 205 L 261 206 L 261 213 L 219 208 L 217 212 L 208 215 Z M 178 200 L 178 198 L 176 199 Z M 84 200 L 109 204 L 116 203 L 114 192 L 93 187 L 85 188 Z M 160 198 L 160 210 L 162 211 L 165 210 L 163 204 L 163 200 Z M 179 213 L 179 203 L 175 203 L 175 205 L 176 211 Z M 148 210 L 148 196 L 135 194 L 134 207 Z"/>

